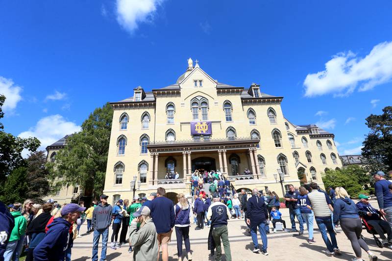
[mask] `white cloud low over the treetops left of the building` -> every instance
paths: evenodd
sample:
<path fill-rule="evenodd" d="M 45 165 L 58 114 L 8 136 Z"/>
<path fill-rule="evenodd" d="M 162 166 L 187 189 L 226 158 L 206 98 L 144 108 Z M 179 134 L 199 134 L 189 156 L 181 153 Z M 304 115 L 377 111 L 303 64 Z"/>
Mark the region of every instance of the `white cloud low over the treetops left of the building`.
<path fill-rule="evenodd" d="M 36 137 L 41 142 L 39 149 L 45 150 L 48 145 L 60 140 L 65 135 L 78 131 L 80 131 L 80 126 L 56 114 L 41 118 L 34 127 L 18 136 L 21 138 Z"/>

